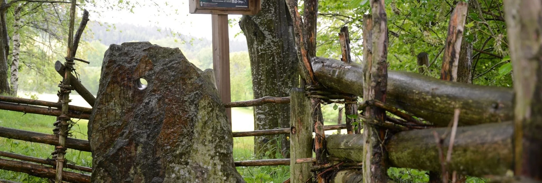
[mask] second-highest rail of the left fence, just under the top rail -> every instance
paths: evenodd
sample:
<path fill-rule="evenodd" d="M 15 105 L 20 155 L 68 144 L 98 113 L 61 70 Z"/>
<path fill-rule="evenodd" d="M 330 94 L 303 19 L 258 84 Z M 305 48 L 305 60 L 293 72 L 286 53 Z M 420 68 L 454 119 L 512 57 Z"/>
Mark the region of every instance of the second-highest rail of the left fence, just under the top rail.
<path fill-rule="evenodd" d="M 27 104 L 16 104 L 16 103 L 10 103 L 10 102 L 0 102 L 0 109 L 11 110 L 11 111 L 21 112 L 21 113 L 42 114 L 42 115 L 48 115 L 48 116 L 59 116 L 60 114 L 62 114 L 61 109 L 55 109 L 55 108 L 49 108 L 49 107 L 37 107 L 37 106 L 30 106 Z M 88 120 L 90 116 L 89 113 L 83 113 L 76 110 L 68 110 L 68 113 L 66 114 L 72 118 L 83 119 L 83 120 Z"/>

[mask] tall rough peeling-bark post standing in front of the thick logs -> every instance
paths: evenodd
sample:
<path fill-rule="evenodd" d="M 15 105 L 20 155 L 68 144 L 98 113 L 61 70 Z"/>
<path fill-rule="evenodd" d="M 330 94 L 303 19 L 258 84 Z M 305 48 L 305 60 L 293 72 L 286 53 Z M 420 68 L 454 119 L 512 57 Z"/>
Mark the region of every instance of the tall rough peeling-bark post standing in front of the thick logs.
<path fill-rule="evenodd" d="M 363 100 L 386 101 L 386 87 L 388 83 L 388 18 L 384 9 L 384 0 L 371 0 L 372 23 L 368 28 L 371 31 L 372 47 L 368 52 L 372 59 L 363 62 L 364 66 L 364 86 Z M 369 31 L 369 29 L 366 31 Z M 365 35 L 364 35 L 365 37 Z M 364 115 L 369 120 L 375 120 L 377 124 L 384 124 L 386 111 L 376 106 L 367 106 Z M 365 143 L 363 145 L 363 182 L 386 182 L 388 180 L 387 152 L 380 146 L 385 140 L 388 131 L 380 126 L 371 123 L 363 123 L 363 135 Z"/>

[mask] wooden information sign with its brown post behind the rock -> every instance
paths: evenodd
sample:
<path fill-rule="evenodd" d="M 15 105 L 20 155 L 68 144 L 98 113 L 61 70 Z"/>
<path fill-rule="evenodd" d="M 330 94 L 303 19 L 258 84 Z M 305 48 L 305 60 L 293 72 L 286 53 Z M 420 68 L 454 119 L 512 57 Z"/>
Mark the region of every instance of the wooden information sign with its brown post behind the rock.
<path fill-rule="evenodd" d="M 260 0 L 189 0 L 191 14 L 213 14 L 212 69 L 215 70 L 218 94 L 223 103 L 231 102 L 230 45 L 228 15 L 256 15 L 261 10 Z M 226 108 L 231 125 L 231 108 Z"/>

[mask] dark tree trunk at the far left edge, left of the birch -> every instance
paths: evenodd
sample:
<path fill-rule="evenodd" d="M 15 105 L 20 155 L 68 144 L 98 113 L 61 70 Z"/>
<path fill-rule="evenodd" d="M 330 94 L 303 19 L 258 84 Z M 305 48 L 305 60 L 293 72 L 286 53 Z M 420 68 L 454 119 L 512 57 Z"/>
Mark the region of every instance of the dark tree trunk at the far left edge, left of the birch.
<path fill-rule="evenodd" d="M 8 82 L 9 36 L 7 25 L 8 0 L 0 0 L 0 95 L 11 94 Z"/>

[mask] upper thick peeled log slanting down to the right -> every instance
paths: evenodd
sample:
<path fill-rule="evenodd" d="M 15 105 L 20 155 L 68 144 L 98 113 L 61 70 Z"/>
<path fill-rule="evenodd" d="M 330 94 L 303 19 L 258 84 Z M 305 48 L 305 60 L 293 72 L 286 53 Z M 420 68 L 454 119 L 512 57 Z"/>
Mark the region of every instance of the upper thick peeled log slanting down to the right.
<path fill-rule="evenodd" d="M 328 88 L 363 95 L 363 69 L 357 63 L 312 58 L 314 75 Z M 405 71 L 388 71 L 386 103 L 417 117 L 448 126 L 454 109 L 461 108 L 459 125 L 477 125 L 513 119 L 512 88 L 442 81 Z"/>

